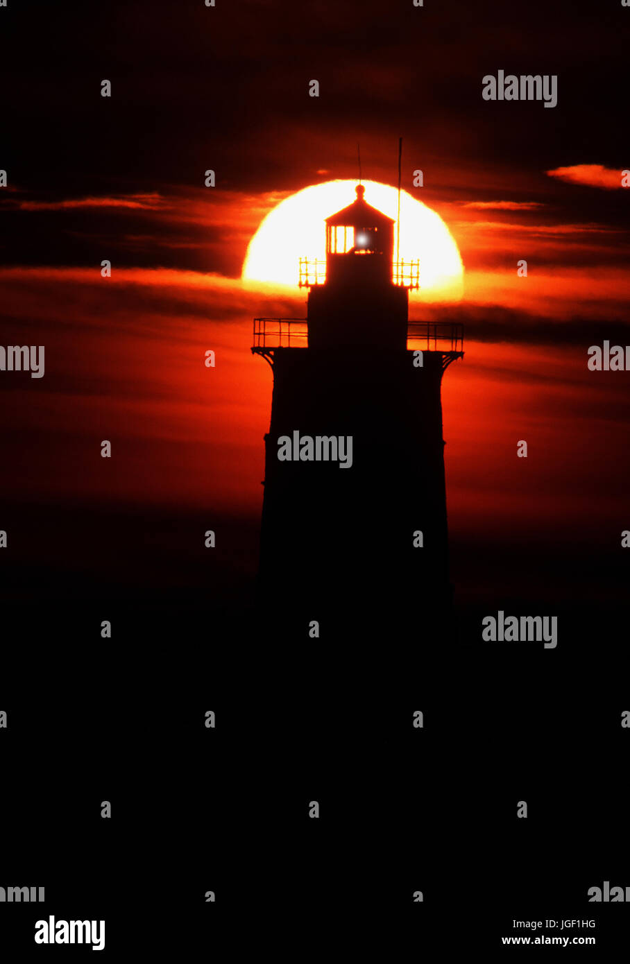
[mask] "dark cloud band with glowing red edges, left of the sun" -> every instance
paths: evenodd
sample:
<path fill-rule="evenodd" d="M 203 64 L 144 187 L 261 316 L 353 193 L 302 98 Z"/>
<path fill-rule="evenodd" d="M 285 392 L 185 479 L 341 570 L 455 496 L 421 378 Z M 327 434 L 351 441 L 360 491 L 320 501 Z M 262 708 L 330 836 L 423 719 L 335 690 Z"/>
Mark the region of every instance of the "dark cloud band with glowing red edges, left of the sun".
<path fill-rule="evenodd" d="M 100 264 L 109 256 L 119 267 L 160 265 L 235 277 L 260 222 L 287 194 L 253 196 L 167 183 L 150 192 L 86 192 L 74 198 L 68 192 L 22 192 L 0 198 L 11 237 L 2 260 L 61 266 Z"/>

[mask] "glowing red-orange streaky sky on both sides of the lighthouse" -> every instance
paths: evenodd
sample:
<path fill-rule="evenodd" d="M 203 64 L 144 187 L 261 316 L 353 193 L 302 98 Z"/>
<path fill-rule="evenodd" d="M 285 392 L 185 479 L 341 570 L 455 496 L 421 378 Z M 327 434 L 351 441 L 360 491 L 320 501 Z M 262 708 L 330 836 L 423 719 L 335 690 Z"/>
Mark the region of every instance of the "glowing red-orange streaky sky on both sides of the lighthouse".
<path fill-rule="evenodd" d="M 305 294 L 245 290 L 227 269 L 239 273 L 252 232 L 281 197 L 111 199 L 127 259 L 142 251 L 159 263 L 160 250 L 180 251 L 206 233 L 208 262 L 231 252 L 225 274 L 121 267 L 115 258 L 109 280 L 97 266 L 0 269 L 5 343 L 46 345 L 43 379 L 3 383 L 6 498 L 185 507 L 258 524 L 271 371 L 250 353 L 252 318 L 303 315 Z M 507 529 L 513 539 L 515 526 L 597 537 L 625 520 L 617 472 L 617 452 L 628 450 L 624 375 L 586 367 L 589 345 L 614 338 L 627 317 L 624 235 L 569 224 L 545 205 L 435 204 L 460 247 L 465 295 L 448 306 L 414 299 L 410 317 L 466 326 L 465 359 L 443 384 L 455 566 L 458 540 L 470 548 Z M 89 207 L 62 203 L 23 216 L 94 217 Z M 101 198 L 96 207 L 108 204 Z M 193 228 L 201 233 L 189 234 Z M 527 279 L 516 274 L 521 257 Z M 208 348 L 215 368 L 205 367 Z M 104 468 L 103 439 L 115 452 Z M 527 461 L 515 457 L 521 439 Z"/>

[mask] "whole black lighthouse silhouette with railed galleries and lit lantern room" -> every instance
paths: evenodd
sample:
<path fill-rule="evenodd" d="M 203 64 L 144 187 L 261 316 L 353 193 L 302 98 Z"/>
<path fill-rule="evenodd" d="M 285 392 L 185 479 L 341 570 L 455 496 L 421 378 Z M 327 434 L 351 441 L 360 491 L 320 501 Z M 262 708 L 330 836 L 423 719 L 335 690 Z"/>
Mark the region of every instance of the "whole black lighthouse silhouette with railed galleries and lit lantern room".
<path fill-rule="evenodd" d="M 259 590 L 435 614 L 452 599 L 440 391 L 462 328 L 409 321 L 419 262 L 395 261 L 395 222 L 364 194 L 325 219 L 325 262 L 299 259 L 307 317 L 254 320 L 273 371 Z"/>

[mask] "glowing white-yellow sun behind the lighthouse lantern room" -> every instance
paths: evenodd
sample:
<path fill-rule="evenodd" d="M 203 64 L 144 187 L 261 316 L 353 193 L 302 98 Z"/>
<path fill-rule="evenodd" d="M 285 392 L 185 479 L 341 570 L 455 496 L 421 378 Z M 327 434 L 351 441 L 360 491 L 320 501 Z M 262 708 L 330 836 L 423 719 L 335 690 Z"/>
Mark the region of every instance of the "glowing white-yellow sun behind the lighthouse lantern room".
<path fill-rule="evenodd" d="M 397 189 L 378 181 L 364 181 L 364 184 L 366 201 L 396 219 Z M 277 204 L 249 243 L 242 280 L 297 287 L 300 256 L 312 260 L 325 258 L 324 219 L 354 201 L 355 187 L 353 180 L 326 181 L 304 188 Z M 396 234 L 395 226 L 395 256 Z M 357 247 L 365 244 L 361 238 L 362 235 L 357 237 Z M 400 196 L 399 256 L 404 261 L 420 260 L 419 295 L 424 300 L 462 297 L 464 268 L 451 231 L 439 214 L 406 191 Z"/>

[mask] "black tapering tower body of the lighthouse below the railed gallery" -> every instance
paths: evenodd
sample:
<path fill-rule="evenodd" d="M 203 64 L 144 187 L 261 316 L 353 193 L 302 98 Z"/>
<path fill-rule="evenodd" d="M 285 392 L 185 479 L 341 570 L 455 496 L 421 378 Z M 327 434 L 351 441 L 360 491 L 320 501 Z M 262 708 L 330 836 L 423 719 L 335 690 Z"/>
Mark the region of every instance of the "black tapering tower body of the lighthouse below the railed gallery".
<path fill-rule="evenodd" d="M 441 354 L 418 368 L 406 349 L 279 348 L 273 372 L 261 591 L 381 610 L 446 603 Z M 352 467 L 279 461 L 278 439 L 294 431 L 351 436 Z"/>

